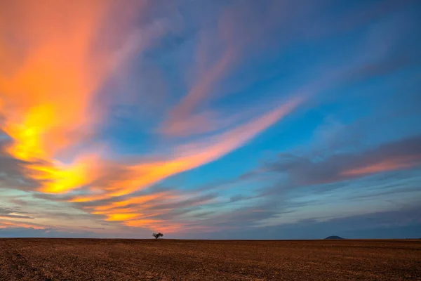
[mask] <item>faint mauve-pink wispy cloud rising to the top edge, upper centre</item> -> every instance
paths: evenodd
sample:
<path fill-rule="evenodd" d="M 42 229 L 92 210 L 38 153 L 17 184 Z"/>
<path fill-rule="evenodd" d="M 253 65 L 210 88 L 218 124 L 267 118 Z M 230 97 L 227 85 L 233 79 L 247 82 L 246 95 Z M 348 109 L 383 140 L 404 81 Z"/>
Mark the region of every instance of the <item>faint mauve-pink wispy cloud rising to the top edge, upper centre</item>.
<path fill-rule="evenodd" d="M 196 136 L 218 131 L 222 124 L 229 126 L 241 119 L 241 116 L 221 116 L 215 109 L 210 110 L 209 105 L 233 93 L 224 85 L 225 79 L 241 65 L 242 60 L 252 55 L 256 46 L 267 44 L 276 25 L 292 20 L 297 13 L 302 13 L 299 5 L 288 6 L 277 1 L 261 3 L 258 12 L 253 1 L 224 5 L 216 17 L 218 25 L 201 26 L 194 48 L 194 71 L 187 73 L 194 77 L 189 79 L 192 85 L 168 112 L 159 132 L 165 136 Z"/>

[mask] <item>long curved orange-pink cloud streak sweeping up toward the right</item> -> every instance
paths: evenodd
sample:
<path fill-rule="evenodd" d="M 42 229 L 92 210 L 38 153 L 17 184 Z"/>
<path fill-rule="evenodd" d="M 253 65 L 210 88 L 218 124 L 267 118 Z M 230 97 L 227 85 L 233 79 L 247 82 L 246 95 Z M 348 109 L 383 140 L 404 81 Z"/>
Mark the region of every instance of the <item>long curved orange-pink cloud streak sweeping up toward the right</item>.
<path fill-rule="evenodd" d="M 169 176 L 213 162 L 250 141 L 258 133 L 288 115 L 301 102 L 302 98 L 293 98 L 288 103 L 231 131 L 226 131 L 212 138 L 206 138 L 199 143 L 183 145 L 171 159 L 128 166 L 126 178 L 107 187 L 107 190 L 104 190 L 106 194 L 93 195 L 92 197 L 76 197 L 73 201 L 86 202 L 128 195 L 142 188 L 147 188 L 149 185 L 162 181 Z"/>

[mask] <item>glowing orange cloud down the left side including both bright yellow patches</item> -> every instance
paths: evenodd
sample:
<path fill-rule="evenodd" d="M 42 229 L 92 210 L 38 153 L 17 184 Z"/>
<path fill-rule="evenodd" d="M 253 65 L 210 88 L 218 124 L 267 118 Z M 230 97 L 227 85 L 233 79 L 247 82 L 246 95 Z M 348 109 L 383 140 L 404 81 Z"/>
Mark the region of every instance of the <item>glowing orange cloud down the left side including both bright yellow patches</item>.
<path fill-rule="evenodd" d="M 110 13 L 121 18 L 122 8 L 110 0 L 0 4 L 2 62 L 5 58 L 0 70 L 0 126 L 13 139 L 7 148 L 13 157 L 48 163 L 29 166 L 32 176 L 43 180 L 42 192 L 68 192 L 95 176 L 95 157 L 76 156 L 71 164 L 56 157 L 93 133 L 102 113 L 93 100 L 129 55 L 127 49 L 133 49 L 123 38 L 110 48 L 106 43 L 112 32 L 107 33 L 107 42 L 102 38 Z"/>

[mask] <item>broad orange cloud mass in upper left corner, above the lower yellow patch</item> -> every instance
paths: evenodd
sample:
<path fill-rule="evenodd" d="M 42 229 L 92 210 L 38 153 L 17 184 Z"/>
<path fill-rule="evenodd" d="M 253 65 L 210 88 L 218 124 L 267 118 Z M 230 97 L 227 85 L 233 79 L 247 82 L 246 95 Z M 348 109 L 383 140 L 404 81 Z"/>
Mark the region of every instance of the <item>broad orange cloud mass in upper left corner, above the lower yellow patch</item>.
<path fill-rule="evenodd" d="M 25 48 L 23 54 L 13 44 L 2 48 L 15 64 L 0 74 L 3 129 L 14 140 L 13 156 L 53 157 L 95 118 L 88 106 L 110 62 L 93 52 L 110 2 L 13 2 L 6 7 L 13 17 L 0 14 L 8 19 L 1 31 L 13 32 Z"/>

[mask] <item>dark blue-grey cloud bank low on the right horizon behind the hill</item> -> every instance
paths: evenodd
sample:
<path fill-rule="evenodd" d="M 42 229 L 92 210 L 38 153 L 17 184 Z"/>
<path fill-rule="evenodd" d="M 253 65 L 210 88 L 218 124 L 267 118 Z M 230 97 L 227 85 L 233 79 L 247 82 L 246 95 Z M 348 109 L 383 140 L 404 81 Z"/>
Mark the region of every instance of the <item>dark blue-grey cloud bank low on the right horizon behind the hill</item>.
<path fill-rule="evenodd" d="M 175 237 L 201 239 L 245 239 L 245 240 L 295 240 L 323 239 L 339 235 L 349 239 L 402 239 L 419 238 L 421 232 L 421 208 L 410 207 L 394 211 L 340 218 L 307 218 L 296 223 L 279 226 L 255 226 L 247 220 L 234 228 L 215 228 L 210 233 L 187 233 Z"/>

